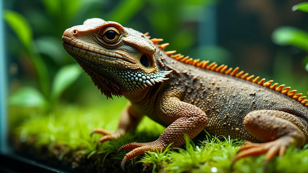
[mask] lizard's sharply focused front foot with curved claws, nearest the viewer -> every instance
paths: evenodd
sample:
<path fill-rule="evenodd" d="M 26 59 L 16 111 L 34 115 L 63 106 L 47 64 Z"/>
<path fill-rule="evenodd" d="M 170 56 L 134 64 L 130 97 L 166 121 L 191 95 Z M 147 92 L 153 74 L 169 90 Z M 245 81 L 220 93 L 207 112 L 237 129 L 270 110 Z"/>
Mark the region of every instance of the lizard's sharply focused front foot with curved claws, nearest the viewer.
<path fill-rule="evenodd" d="M 122 147 L 120 147 L 119 151 L 118 151 L 118 155 L 120 154 L 121 151 L 123 150 L 128 150 L 131 149 L 132 151 L 128 152 L 122 162 L 121 162 L 121 168 L 124 171 L 125 169 L 125 163 L 129 160 L 132 159 L 138 155 L 142 155 L 145 153 L 145 151 L 156 151 L 156 148 L 158 150 L 161 149 L 165 149 L 168 145 L 165 145 L 163 143 L 163 141 L 160 140 L 156 140 L 154 142 L 149 142 L 149 143 L 136 143 L 136 142 L 132 142 L 132 143 L 128 143 L 123 145 Z"/>

